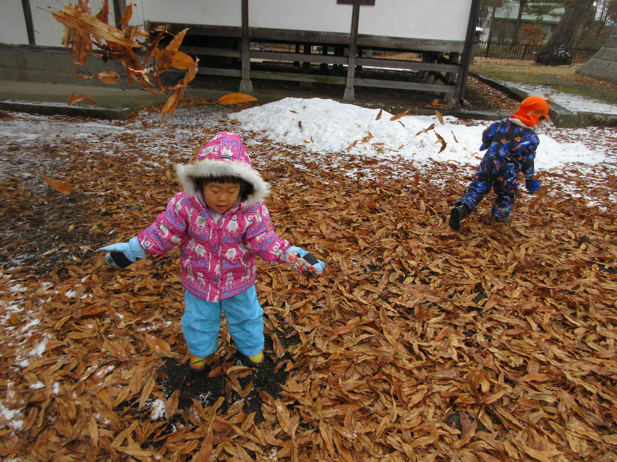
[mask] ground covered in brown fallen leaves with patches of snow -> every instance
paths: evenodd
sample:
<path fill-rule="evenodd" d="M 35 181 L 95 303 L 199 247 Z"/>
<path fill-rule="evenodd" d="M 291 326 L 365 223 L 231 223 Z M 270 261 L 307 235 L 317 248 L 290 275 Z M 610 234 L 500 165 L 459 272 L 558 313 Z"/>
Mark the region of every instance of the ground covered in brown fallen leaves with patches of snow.
<path fill-rule="evenodd" d="M 225 111 L 180 108 L 162 126 L 147 112 L 116 123 L 4 114 L 48 136 L 2 148 L 0 455 L 617 459 L 614 177 L 553 172 L 550 194 L 520 195 L 511 225 L 491 224 L 487 200 L 455 233 L 447 214 L 470 166 L 313 155 L 241 132 Z M 273 185 L 276 231 L 328 269 L 306 280 L 260 264 L 265 368 L 247 368 L 223 326 L 196 376 L 181 365 L 178 254 L 119 271 L 95 249 L 149 224 L 178 190 L 173 164 L 219 130 L 242 133 Z M 594 133 L 616 163 L 616 129 Z"/>

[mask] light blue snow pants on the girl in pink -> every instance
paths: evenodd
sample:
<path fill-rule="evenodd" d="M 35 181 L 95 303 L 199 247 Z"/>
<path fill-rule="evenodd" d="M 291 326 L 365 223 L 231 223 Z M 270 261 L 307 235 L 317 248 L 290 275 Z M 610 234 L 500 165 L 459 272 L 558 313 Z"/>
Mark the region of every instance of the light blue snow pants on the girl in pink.
<path fill-rule="evenodd" d="M 221 311 L 227 327 L 243 355 L 256 355 L 263 349 L 263 310 L 257 301 L 255 286 L 219 302 L 207 302 L 184 291 L 182 333 L 195 356 L 207 356 L 217 351 Z"/>

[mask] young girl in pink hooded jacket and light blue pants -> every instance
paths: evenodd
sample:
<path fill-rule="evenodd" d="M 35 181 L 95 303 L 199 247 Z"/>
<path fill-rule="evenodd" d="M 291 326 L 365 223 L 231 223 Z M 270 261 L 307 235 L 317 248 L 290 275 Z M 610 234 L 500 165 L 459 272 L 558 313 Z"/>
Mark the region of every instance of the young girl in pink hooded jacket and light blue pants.
<path fill-rule="evenodd" d="M 190 367 L 202 370 L 217 349 L 221 311 L 236 347 L 249 361 L 263 360 L 263 310 L 255 291 L 257 256 L 288 263 L 307 277 L 325 264 L 292 246 L 272 229 L 263 201 L 270 185 L 252 168 L 240 137 L 219 132 L 192 164 L 176 165 L 183 192 L 167 203 L 154 223 L 128 242 L 109 245 L 106 262 L 124 268 L 147 253 L 180 245 L 185 289 L 182 332 Z"/>

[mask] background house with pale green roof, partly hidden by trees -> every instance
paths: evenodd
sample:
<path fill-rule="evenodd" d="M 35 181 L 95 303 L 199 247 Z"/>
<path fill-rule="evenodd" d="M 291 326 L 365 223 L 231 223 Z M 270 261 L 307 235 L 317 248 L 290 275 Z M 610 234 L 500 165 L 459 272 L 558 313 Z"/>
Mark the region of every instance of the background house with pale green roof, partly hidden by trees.
<path fill-rule="evenodd" d="M 492 36 L 491 41 L 503 42 L 511 39 L 514 34 L 516 25 L 516 17 L 518 16 L 518 1 L 506 1 L 503 7 L 495 8 L 494 24 L 491 24 L 493 7 L 487 7 L 482 12 L 482 22 L 480 26 L 484 29 L 485 34 L 481 36 L 481 41 L 488 41 L 489 36 Z M 561 15 L 565 13 L 563 7 L 555 4 L 555 8 L 550 14 L 540 15 L 540 25 L 544 30 L 544 41 L 549 41 L 550 36 L 555 31 L 557 24 L 561 20 Z M 524 14 L 521 16 L 521 27 L 526 23 L 534 23 L 538 20 L 537 15 Z M 494 29 L 491 34 L 491 29 Z"/>

